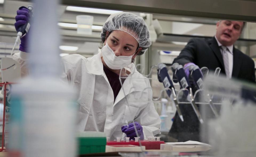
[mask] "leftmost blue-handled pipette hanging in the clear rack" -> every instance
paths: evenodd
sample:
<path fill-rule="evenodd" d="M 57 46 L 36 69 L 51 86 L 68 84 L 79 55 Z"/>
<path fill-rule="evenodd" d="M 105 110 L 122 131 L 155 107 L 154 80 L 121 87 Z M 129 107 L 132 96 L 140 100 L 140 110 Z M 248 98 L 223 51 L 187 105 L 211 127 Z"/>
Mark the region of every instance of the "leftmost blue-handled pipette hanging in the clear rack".
<path fill-rule="evenodd" d="M 170 88 L 171 89 L 171 90 L 166 90 L 167 95 L 169 97 L 171 97 L 171 93 L 173 93 L 173 100 L 174 100 L 175 106 L 177 108 L 179 118 L 183 122 L 184 119 L 183 119 L 183 116 L 181 114 L 181 110 L 179 108 L 179 103 L 178 103 L 178 100 L 177 100 L 177 97 L 176 97 L 175 88 L 174 88 L 173 82 L 171 81 L 170 76 L 168 74 L 166 65 L 163 64 L 163 63 L 159 63 L 157 71 L 158 71 L 157 77 L 158 77 L 159 82 L 163 82 L 163 85 L 165 86 L 165 88 Z"/>

